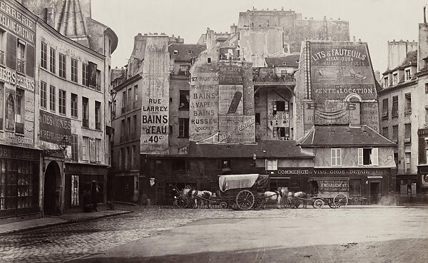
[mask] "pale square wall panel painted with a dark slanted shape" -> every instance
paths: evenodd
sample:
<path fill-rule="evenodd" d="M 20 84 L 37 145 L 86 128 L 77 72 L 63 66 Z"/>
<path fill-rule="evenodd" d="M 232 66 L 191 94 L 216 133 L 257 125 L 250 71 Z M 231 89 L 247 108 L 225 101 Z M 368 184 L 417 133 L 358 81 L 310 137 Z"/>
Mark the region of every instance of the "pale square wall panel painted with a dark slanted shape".
<path fill-rule="evenodd" d="M 218 87 L 218 114 L 243 115 L 242 85 L 220 85 Z"/>

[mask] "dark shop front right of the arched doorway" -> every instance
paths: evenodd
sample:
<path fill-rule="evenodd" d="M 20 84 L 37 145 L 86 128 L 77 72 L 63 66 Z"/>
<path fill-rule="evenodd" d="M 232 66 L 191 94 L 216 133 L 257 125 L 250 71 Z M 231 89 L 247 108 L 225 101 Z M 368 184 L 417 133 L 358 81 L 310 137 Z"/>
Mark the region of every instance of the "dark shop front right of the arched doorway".
<path fill-rule="evenodd" d="M 66 163 L 65 208 L 80 210 L 85 202 L 93 200 L 106 204 L 107 174 L 108 167 L 104 165 Z"/>

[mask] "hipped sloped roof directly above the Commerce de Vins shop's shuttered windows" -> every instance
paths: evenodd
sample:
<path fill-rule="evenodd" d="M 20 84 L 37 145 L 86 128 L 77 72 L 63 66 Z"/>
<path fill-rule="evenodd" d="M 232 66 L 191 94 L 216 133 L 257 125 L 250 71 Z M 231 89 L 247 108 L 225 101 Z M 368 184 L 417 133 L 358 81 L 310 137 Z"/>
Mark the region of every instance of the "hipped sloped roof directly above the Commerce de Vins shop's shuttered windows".
<path fill-rule="evenodd" d="M 303 140 L 302 146 L 392 146 L 395 143 L 376 133 L 367 125 L 352 128 L 349 125 L 315 125 Z"/>

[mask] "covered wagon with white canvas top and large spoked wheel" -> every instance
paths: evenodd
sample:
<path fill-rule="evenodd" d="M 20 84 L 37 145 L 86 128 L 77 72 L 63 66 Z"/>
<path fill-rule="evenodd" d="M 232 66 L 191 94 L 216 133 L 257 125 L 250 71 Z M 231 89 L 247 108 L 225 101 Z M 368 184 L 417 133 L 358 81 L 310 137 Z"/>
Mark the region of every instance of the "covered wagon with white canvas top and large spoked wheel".
<path fill-rule="evenodd" d="M 220 207 L 249 210 L 263 205 L 269 175 L 220 175 Z"/>

